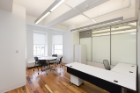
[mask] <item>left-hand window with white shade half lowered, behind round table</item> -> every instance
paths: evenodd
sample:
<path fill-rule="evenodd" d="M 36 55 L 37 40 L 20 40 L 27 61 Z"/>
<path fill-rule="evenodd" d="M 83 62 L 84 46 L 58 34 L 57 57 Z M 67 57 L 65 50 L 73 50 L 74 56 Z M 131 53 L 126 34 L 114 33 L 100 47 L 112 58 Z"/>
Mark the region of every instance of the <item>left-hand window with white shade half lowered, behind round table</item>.
<path fill-rule="evenodd" d="M 34 45 L 33 45 L 34 56 L 45 55 L 45 46 L 46 46 L 46 34 L 34 33 Z"/>

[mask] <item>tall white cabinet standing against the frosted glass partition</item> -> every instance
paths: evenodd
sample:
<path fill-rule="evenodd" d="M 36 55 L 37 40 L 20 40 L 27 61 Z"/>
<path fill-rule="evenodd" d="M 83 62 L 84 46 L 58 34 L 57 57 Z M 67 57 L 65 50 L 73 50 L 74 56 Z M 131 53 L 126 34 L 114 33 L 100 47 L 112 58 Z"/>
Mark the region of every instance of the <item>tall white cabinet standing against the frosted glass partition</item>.
<path fill-rule="evenodd" d="M 74 45 L 74 61 L 87 64 L 86 45 Z"/>

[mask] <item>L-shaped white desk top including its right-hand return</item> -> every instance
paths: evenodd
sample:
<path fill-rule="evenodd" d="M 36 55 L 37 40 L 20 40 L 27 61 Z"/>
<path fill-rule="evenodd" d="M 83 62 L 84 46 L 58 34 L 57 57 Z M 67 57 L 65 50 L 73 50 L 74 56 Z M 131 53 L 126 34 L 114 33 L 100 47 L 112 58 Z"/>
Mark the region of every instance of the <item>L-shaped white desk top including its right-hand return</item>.
<path fill-rule="evenodd" d="M 113 85 L 117 85 L 117 87 L 120 86 L 120 87 L 124 87 L 124 88 L 128 88 L 128 89 L 136 91 L 136 79 L 137 79 L 136 78 L 137 76 L 136 65 L 119 63 L 110 71 L 93 67 L 93 66 L 89 66 L 89 65 L 85 65 L 85 64 L 81 64 L 78 62 L 69 63 L 69 64 L 66 64 L 66 66 L 68 67 L 67 68 L 68 73 L 70 72 L 70 74 L 74 74 L 74 76 L 76 76 L 76 73 L 73 72 L 73 70 L 78 71 L 77 76 L 78 76 L 78 73 L 81 74 L 82 72 L 82 73 L 85 73 L 85 75 L 88 74 L 95 78 L 102 79 L 106 81 L 107 83 L 109 82 L 110 85 L 113 84 Z M 79 78 L 83 79 L 85 77 L 79 77 Z"/>

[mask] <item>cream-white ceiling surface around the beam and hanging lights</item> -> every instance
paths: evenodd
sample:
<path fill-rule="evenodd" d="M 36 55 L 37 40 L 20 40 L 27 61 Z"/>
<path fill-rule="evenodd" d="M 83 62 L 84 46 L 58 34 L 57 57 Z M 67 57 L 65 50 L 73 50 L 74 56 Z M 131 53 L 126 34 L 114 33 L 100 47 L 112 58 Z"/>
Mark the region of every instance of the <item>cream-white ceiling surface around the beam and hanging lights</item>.
<path fill-rule="evenodd" d="M 13 0 L 14 3 L 24 6 L 26 8 L 27 15 L 34 16 L 34 17 L 39 17 L 54 1 L 55 0 Z M 64 25 L 80 25 L 89 21 L 91 23 L 94 23 L 90 19 L 86 18 L 83 15 L 80 15 L 78 12 L 65 5 L 65 3 L 67 3 L 71 7 L 77 7 L 78 5 L 80 5 L 85 1 L 88 0 L 66 0 L 57 9 L 55 9 L 49 16 L 46 17 L 46 19 L 44 20 L 44 25 L 49 23 L 50 23 L 49 26 L 54 26 L 59 23 Z M 131 2 L 133 1 L 135 0 L 131 0 Z M 87 15 L 89 18 L 94 18 L 99 15 L 108 13 L 110 11 L 123 8 L 127 5 L 128 5 L 128 0 L 109 0 L 98 6 L 93 5 L 95 7 L 90 10 L 87 9 L 84 12 L 84 14 Z M 83 7 L 85 8 L 85 5 L 83 5 Z M 60 16 L 65 15 L 65 13 L 67 13 L 70 10 L 73 10 L 73 12 L 77 13 L 77 16 L 74 16 L 72 18 L 69 17 L 70 19 L 67 20 L 59 20 L 60 22 L 55 23 L 57 21 L 56 19 L 63 19 L 63 17 L 61 18 Z"/>

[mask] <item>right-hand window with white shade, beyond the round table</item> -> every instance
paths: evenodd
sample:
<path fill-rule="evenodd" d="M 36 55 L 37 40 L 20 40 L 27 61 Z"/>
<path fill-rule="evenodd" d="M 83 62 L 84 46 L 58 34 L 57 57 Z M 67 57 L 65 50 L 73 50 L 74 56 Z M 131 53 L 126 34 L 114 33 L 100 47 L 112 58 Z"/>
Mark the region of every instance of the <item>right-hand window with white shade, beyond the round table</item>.
<path fill-rule="evenodd" d="M 53 54 L 63 54 L 63 35 L 53 35 Z"/>

